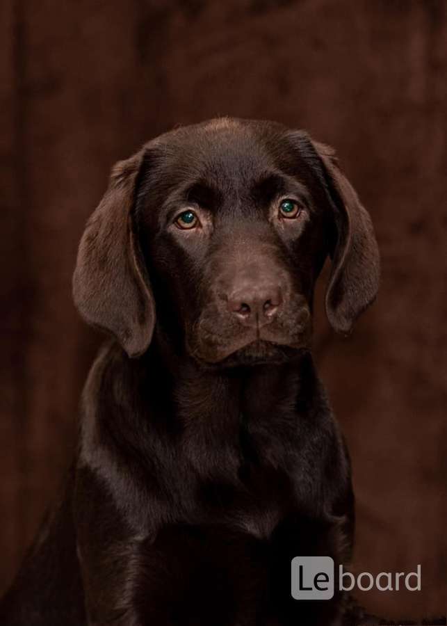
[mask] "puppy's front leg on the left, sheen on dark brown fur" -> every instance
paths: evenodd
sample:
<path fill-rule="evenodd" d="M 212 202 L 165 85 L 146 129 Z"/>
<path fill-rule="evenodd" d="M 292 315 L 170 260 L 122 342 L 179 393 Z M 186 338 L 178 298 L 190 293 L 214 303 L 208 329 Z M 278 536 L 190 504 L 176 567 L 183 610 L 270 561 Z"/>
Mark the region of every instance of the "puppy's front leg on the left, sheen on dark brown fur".
<path fill-rule="evenodd" d="M 74 522 L 88 626 L 149 623 L 145 604 L 157 586 L 145 567 L 152 541 L 147 530 L 133 527 L 121 505 L 103 476 L 88 465 L 78 467 Z M 167 611 L 150 623 L 174 626 Z"/>

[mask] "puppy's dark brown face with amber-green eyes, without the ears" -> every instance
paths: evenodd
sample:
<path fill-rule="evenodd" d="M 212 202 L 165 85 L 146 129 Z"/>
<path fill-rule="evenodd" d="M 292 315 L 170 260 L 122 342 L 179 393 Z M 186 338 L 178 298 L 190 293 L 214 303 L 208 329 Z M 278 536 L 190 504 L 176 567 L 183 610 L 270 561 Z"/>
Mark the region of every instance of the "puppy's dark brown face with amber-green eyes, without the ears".
<path fill-rule="evenodd" d="M 187 127 L 147 153 L 136 220 L 159 325 L 207 363 L 307 346 L 327 201 L 273 125 Z"/>

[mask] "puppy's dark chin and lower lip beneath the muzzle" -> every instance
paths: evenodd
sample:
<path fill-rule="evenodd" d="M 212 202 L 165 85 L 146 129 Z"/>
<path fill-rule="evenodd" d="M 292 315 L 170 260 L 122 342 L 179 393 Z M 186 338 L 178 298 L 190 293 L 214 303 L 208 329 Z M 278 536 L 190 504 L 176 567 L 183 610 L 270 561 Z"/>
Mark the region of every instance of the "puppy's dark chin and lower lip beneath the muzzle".
<path fill-rule="evenodd" d="M 308 349 L 307 342 L 279 344 L 266 339 L 254 339 L 231 351 L 222 351 L 220 355 L 199 356 L 204 367 L 225 369 L 229 367 L 252 367 L 262 364 L 282 364 L 296 359 Z M 197 358 L 198 355 L 196 355 Z"/>

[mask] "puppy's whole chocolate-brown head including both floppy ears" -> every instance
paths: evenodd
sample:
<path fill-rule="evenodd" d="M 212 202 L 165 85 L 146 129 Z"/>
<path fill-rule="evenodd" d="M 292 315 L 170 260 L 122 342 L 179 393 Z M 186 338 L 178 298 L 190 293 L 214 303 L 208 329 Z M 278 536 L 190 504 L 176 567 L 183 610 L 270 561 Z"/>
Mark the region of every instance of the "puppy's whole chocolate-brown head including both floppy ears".
<path fill-rule="evenodd" d="M 348 333 L 377 293 L 379 253 L 333 150 L 222 118 L 117 163 L 79 247 L 74 300 L 129 356 L 156 328 L 204 364 L 280 361 L 309 346 L 327 255 L 327 316 Z"/>

